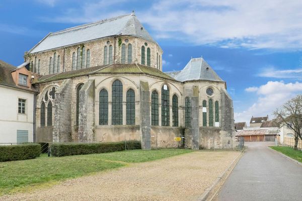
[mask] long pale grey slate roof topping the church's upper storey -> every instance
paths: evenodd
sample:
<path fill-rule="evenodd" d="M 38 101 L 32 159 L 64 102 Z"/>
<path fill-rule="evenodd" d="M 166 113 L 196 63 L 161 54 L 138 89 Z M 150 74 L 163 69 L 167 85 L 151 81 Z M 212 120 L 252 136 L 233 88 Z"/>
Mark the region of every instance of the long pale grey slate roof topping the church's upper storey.
<path fill-rule="evenodd" d="M 35 45 L 29 53 L 41 52 L 114 35 L 137 36 L 148 41 L 154 41 L 134 13 L 132 13 L 55 33 L 49 33 L 42 41 Z"/>

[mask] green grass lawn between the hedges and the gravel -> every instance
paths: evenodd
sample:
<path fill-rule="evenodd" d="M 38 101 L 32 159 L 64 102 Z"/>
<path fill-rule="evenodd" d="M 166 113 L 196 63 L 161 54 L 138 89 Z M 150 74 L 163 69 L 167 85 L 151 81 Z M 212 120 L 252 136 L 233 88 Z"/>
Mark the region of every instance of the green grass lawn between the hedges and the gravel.
<path fill-rule="evenodd" d="M 33 185 L 123 167 L 127 163 L 158 160 L 188 152 L 191 150 L 130 150 L 64 157 L 47 157 L 47 154 L 42 154 L 36 159 L 0 162 L 0 195 L 24 191 Z"/>

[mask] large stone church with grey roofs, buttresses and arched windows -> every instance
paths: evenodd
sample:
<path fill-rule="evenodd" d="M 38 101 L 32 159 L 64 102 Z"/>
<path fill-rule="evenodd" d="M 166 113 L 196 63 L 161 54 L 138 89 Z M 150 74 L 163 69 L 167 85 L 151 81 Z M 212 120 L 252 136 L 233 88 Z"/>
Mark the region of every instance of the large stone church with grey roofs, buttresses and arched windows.
<path fill-rule="evenodd" d="M 203 58 L 165 73 L 162 55 L 134 13 L 49 33 L 24 56 L 39 75 L 35 140 L 233 148 L 225 81 Z"/>

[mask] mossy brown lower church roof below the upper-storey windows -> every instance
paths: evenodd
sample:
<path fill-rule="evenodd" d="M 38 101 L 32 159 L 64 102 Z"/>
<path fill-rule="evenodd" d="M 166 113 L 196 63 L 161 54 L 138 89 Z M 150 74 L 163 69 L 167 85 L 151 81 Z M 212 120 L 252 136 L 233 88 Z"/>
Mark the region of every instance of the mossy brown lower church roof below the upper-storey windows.
<path fill-rule="evenodd" d="M 167 75 L 166 73 L 156 68 L 132 63 L 132 64 L 111 64 L 111 65 L 95 66 L 95 67 L 83 68 L 79 70 L 72 70 L 72 71 L 66 71 L 61 73 L 44 75 L 40 77 L 38 82 L 36 83 L 49 82 L 49 81 L 55 81 L 60 79 L 85 76 L 90 74 L 147 74 L 147 75 L 161 77 L 164 79 L 177 81 L 174 78 Z"/>

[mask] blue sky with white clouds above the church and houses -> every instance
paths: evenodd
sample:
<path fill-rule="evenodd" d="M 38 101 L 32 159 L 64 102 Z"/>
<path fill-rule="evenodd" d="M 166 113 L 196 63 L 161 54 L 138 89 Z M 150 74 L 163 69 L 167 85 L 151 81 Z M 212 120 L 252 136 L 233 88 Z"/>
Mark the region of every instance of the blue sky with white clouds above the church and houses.
<path fill-rule="evenodd" d="M 302 2 L 294 0 L 2 0 L 0 59 L 19 65 L 49 32 L 132 10 L 163 48 L 164 71 L 202 56 L 226 81 L 236 122 L 302 93 Z"/>

